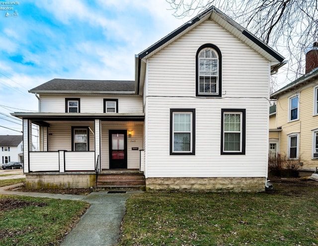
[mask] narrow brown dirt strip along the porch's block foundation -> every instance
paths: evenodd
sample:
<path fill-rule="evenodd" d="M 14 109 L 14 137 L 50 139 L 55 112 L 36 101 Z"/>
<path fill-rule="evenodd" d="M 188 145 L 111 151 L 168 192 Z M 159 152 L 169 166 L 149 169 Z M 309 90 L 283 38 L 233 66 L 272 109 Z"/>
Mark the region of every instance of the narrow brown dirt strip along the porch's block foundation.
<path fill-rule="evenodd" d="M 24 191 L 24 192 L 42 192 L 42 193 L 53 193 L 53 194 L 70 194 L 70 195 L 88 195 L 93 191 L 91 188 L 41 188 L 33 189 L 27 188 L 25 185 L 19 186 L 18 188 L 11 188 L 9 190 Z"/>

